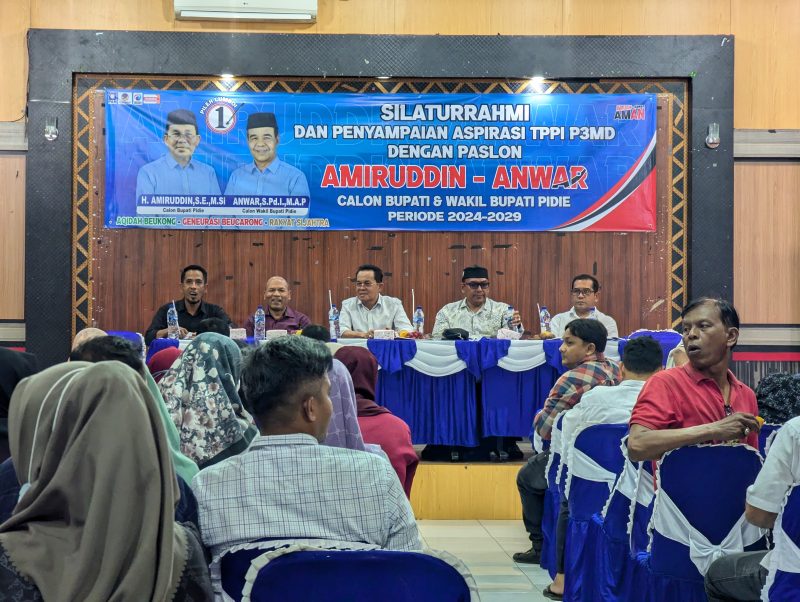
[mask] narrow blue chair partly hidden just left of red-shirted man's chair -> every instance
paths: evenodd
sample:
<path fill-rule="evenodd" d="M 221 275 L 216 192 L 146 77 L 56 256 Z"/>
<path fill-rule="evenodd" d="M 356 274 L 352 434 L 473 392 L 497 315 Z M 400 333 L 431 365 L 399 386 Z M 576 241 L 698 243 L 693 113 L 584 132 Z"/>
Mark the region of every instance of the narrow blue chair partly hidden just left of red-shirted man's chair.
<path fill-rule="evenodd" d="M 629 552 L 629 525 L 636 503 L 641 467 L 638 462 L 628 460 L 627 450 L 627 441 L 623 440 L 620 446 L 625 458 L 622 473 L 602 513 L 592 515 L 592 522 L 589 523 L 589 537 L 595 546 L 592 582 L 596 600 L 630 599 L 627 592 L 630 591 L 635 561 Z M 652 480 L 652 475 L 648 478 Z"/>

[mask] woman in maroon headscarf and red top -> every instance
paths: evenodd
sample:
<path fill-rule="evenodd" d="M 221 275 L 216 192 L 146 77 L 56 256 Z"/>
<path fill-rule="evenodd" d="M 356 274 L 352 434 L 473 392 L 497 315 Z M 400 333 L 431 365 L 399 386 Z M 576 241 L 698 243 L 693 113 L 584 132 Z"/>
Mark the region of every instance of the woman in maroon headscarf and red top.
<path fill-rule="evenodd" d="M 419 458 L 411 445 L 411 429 L 408 425 L 387 408 L 375 403 L 378 361 L 369 350 L 354 345 L 339 349 L 336 359 L 345 365 L 353 379 L 358 424 L 364 441 L 377 443 L 386 452 L 406 496 L 410 498 Z"/>

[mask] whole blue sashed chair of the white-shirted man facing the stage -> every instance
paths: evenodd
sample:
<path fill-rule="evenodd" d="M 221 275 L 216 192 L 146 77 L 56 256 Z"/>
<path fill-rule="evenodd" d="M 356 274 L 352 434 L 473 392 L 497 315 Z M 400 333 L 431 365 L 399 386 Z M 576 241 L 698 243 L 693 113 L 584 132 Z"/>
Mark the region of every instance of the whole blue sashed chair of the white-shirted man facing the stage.
<path fill-rule="evenodd" d="M 595 544 L 589 526 L 592 516 L 605 507 L 625 465 L 620 443 L 627 434 L 627 424 L 587 426 L 579 430 L 573 446 L 562 450 L 569 467 L 564 556 L 567 600 L 592 600 Z"/>

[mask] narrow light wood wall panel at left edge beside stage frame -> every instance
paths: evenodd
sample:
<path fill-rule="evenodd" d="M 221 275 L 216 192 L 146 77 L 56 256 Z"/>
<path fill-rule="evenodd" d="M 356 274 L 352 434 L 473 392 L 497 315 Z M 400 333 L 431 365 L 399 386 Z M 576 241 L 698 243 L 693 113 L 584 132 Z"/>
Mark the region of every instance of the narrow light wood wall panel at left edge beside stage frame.
<path fill-rule="evenodd" d="M 0 320 L 21 320 L 25 301 L 25 156 L 0 154 Z"/>

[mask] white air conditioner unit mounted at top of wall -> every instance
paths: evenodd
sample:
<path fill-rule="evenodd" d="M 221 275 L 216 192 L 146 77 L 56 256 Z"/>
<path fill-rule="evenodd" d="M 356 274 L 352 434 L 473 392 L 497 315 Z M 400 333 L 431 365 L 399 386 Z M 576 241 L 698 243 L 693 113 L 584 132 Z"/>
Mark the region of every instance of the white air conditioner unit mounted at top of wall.
<path fill-rule="evenodd" d="M 317 0 L 174 0 L 175 18 L 314 23 Z"/>

